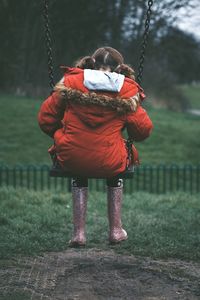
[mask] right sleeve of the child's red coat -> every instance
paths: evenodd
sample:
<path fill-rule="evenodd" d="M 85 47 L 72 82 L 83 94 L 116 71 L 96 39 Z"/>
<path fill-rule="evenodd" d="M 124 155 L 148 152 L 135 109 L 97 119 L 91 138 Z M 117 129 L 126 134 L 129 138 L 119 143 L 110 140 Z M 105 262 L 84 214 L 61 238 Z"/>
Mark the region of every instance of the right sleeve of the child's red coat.
<path fill-rule="evenodd" d="M 136 112 L 127 115 L 126 128 L 129 138 L 139 142 L 150 135 L 153 124 L 145 109 L 139 106 Z"/>

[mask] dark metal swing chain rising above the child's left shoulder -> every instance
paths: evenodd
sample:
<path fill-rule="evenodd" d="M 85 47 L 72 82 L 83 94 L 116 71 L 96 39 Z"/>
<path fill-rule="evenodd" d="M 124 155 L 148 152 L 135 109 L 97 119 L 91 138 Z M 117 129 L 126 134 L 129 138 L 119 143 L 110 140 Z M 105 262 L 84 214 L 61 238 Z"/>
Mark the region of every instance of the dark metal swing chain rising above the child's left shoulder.
<path fill-rule="evenodd" d="M 54 79 L 53 79 L 53 56 L 52 56 L 52 41 L 51 41 L 51 31 L 49 27 L 49 14 L 48 14 L 48 0 L 44 0 L 43 7 L 43 18 L 44 18 L 44 29 L 45 29 L 45 44 L 47 50 L 47 64 L 48 64 L 48 74 L 49 74 L 49 85 L 53 89 Z"/>

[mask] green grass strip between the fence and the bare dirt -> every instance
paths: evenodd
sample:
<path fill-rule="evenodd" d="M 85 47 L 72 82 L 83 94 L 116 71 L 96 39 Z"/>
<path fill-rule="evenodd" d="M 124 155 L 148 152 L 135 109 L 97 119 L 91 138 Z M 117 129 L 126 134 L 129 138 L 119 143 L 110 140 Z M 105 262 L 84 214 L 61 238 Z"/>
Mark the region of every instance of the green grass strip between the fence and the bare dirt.
<path fill-rule="evenodd" d="M 0 254 L 36 255 L 67 248 L 72 231 L 71 195 L 0 189 Z M 125 195 L 123 223 L 128 241 L 113 247 L 122 254 L 200 260 L 200 201 L 184 193 Z M 90 193 L 88 248 L 108 249 L 106 197 Z"/>

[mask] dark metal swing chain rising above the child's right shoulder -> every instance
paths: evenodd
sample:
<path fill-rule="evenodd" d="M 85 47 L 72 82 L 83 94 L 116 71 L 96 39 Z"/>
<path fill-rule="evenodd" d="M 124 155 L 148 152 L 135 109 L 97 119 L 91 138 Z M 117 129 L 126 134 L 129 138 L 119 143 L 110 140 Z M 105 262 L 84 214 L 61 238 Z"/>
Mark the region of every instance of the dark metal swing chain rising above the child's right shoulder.
<path fill-rule="evenodd" d="M 150 25 L 150 19 L 151 19 L 151 13 L 152 13 L 152 5 L 153 0 L 148 0 L 148 9 L 146 12 L 146 20 L 145 20 L 145 29 L 141 44 L 141 54 L 139 59 L 139 67 L 138 67 L 138 74 L 137 74 L 137 82 L 141 84 L 142 81 L 142 75 L 143 75 L 143 69 L 144 69 L 144 59 L 145 59 L 145 50 L 148 42 L 148 36 L 149 36 L 149 25 Z"/>

